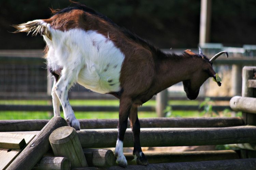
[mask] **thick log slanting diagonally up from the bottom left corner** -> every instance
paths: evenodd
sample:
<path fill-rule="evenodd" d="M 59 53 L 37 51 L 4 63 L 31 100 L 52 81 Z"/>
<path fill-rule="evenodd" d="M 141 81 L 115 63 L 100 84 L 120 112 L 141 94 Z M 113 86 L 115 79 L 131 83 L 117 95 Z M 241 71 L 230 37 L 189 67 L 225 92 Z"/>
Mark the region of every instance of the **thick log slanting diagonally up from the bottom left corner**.
<path fill-rule="evenodd" d="M 40 131 L 40 133 L 34 137 L 34 139 L 28 143 L 27 147 L 14 159 L 7 170 L 12 169 L 32 169 L 41 157 L 50 148 L 49 136 L 57 128 L 67 125 L 65 119 L 60 116 L 53 117 Z"/>

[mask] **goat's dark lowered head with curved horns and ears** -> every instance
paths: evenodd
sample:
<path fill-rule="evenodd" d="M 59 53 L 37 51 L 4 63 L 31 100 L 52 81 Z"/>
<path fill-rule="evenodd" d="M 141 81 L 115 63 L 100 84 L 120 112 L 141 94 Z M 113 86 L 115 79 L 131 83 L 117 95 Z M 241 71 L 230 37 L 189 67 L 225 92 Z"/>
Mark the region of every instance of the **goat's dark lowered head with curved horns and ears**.
<path fill-rule="evenodd" d="M 194 100 L 197 98 L 200 87 L 209 77 L 213 77 L 215 82 L 217 82 L 218 86 L 221 86 L 221 79 L 218 77 L 218 74 L 216 74 L 216 72 L 213 70 L 212 64 L 214 60 L 216 60 L 216 58 L 223 53 L 225 53 L 228 57 L 228 52 L 222 51 L 214 55 L 210 60 L 203 54 L 200 47 L 199 54 L 195 54 L 190 50 L 186 50 L 184 52 L 188 53 L 189 55 L 198 55 L 203 59 L 200 60 L 200 62 L 202 62 L 202 64 L 200 64 L 200 68 L 191 74 L 190 79 L 183 81 L 184 91 L 186 92 L 188 99 Z"/>

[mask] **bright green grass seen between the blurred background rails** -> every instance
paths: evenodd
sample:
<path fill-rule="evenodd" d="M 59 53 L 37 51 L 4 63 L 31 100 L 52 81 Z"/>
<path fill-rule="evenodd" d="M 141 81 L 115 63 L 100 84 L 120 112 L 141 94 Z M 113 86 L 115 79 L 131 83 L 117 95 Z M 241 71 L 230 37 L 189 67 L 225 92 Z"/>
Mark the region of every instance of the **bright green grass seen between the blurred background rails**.
<path fill-rule="evenodd" d="M 89 106 L 118 106 L 118 100 L 70 100 L 71 105 L 89 105 Z M 24 104 L 24 105 L 49 105 L 47 100 L 0 100 L 0 104 Z M 198 105 L 198 101 L 169 101 L 169 104 L 189 104 Z M 155 106 L 155 100 L 150 100 L 143 106 Z M 61 113 L 63 117 L 63 113 Z M 77 119 L 114 119 L 118 118 L 118 112 L 75 112 Z M 198 111 L 172 111 L 170 117 L 199 117 Z M 10 119 L 51 119 L 52 115 L 48 112 L 17 112 L 0 111 L 0 120 Z M 139 118 L 157 117 L 155 112 L 139 112 Z"/>

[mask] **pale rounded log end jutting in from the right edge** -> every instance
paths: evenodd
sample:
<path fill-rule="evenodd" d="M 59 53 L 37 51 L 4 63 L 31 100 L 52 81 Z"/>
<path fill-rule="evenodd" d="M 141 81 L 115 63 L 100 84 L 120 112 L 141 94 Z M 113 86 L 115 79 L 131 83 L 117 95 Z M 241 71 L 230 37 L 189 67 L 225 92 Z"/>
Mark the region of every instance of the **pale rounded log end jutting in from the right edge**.
<path fill-rule="evenodd" d="M 234 96 L 229 102 L 230 107 L 234 111 L 242 111 L 246 113 L 256 114 L 256 98 Z"/>

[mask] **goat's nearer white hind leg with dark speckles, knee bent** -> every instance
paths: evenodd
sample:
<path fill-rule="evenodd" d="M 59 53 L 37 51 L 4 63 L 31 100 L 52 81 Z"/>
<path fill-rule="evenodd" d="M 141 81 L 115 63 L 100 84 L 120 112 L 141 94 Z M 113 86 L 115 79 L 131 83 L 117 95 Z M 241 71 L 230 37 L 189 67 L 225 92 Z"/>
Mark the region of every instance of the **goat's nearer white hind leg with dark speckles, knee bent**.
<path fill-rule="evenodd" d="M 68 122 L 68 124 L 75 128 L 75 130 L 80 130 L 79 121 L 75 118 L 74 111 L 69 103 L 68 99 L 68 90 L 72 86 L 75 81 L 76 75 L 72 71 L 68 71 L 67 69 L 62 70 L 62 75 L 58 82 L 55 84 L 55 93 L 58 96 L 60 103 L 62 105 L 64 118 Z"/>

